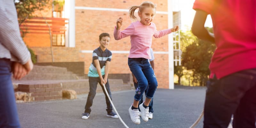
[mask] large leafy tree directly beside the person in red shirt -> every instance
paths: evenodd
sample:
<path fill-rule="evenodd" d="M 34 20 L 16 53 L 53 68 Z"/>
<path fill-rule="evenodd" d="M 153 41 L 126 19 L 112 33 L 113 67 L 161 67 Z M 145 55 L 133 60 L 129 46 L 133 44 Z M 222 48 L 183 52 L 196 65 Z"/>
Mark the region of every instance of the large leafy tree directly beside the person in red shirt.
<path fill-rule="evenodd" d="M 212 28 L 209 28 L 212 31 Z M 210 74 L 209 64 L 216 46 L 196 38 L 182 53 L 182 65 L 193 71 L 193 83 L 204 86 Z"/>

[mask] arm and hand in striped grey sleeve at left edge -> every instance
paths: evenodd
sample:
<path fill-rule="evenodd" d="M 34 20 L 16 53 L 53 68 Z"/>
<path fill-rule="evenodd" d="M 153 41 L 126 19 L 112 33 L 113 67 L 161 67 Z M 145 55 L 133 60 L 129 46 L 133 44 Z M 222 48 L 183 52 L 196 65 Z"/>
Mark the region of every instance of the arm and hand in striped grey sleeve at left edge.
<path fill-rule="evenodd" d="M 13 1 L 2 1 L 0 4 L 0 40 L 1 44 L 18 59 L 20 64 L 14 63 L 12 73 L 15 79 L 21 79 L 25 76 L 24 74 L 27 75 L 33 69 L 33 63 L 30 52 L 20 36 L 17 19 Z"/>

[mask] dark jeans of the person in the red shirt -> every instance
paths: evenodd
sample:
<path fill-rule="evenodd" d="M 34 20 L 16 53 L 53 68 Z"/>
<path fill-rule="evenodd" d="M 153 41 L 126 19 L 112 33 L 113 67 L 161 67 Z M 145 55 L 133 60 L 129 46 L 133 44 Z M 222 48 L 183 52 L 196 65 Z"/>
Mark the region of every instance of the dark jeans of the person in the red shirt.
<path fill-rule="evenodd" d="M 256 68 L 207 82 L 204 128 L 255 128 Z"/>

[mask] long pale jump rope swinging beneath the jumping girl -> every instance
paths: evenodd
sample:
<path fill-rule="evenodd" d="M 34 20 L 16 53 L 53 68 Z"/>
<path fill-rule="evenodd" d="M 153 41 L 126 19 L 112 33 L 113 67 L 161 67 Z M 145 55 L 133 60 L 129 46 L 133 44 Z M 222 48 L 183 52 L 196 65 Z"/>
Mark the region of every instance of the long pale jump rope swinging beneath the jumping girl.
<path fill-rule="evenodd" d="M 111 103 L 113 109 L 115 110 L 116 115 L 118 116 L 119 120 L 124 124 L 124 126 L 125 126 L 126 128 L 129 128 L 129 127 L 124 123 L 124 121 L 122 120 L 122 118 L 119 116 L 118 112 L 116 111 L 116 108 L 115 108 L 115 106 L 114 106 L 112 100 L 110 99 L 110 97 L 109 97 L 109 95 L 108 95 L 108 91 L 107 91 L 107 89 L 106 89 L 105 84 L 103 84 L 103 87 L 104 87 L 104 90 L 105 90 L 105 92 L 106 92 L 106 94 L 107 94 L 107 96 L 108 96 L 108 99 L 109 99 L 109 101 L 110 101 L 110 103 Z M 195 123 L 192 124 L 189 128 L 194 128 L 194 127 L 196 126 L 196 124 L 199 123 L 199 121 L 201 120 L 201 118 L 203 117 L 203 115 L 204 115 L 204 109 L 202 110 L 200 116 L 196 119 Z"/>

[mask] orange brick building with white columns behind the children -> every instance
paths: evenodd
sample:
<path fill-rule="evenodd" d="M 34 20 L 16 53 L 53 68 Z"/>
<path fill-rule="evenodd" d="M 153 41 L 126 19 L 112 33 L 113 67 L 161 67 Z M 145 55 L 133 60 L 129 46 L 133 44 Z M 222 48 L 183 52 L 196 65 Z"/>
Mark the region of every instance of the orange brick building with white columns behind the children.
<path fill-rule="evenodd" d="M 99 35 L 102 32 L 111 36 L 108 49 L 113 57 L 110 74 L 131 74 L 127 64 L 130 51 L 130 38 L 126 37 L 116 41 L 113 36 L 116 20 L 122 17 L 123 26 L 126 28 L 132 22 L 128 16 L 128 8 L 140 5 L 144 0 L 65 0 L 65 5 L 59 11 L 62 18 L 68 18 L 65 36 L 57 34 L 52 39 L 61 39 L 62 43 L 52 46 L 49 34 L 28 33 L 24 37 L 26 44 L 37 55 L 38 62 L 78 62 L 84 61 L 84 74 L 88 73 L 92 61 L 92 51 L 99 47 Z M 157 30 L 173 26 L 172 0 L 151 0 L 157 4 L 156 16 L 153 22 Z M 44 12 L 45 17 L 54 17 L 59 14 L 52 10 Z M 52 35 L 54 36 L 54 35 Z M 59 38 L 60 36 L 60 38 Z M 173 89 L 173 38 L 172 34 L 162 38 L 154 38 L 152 49 L 155 55 L 155 74 L 158 88 Z M 58 42 L 58 41 L 57 41 Z M 63 43 L 64 42 L 64 43 Z"/>

